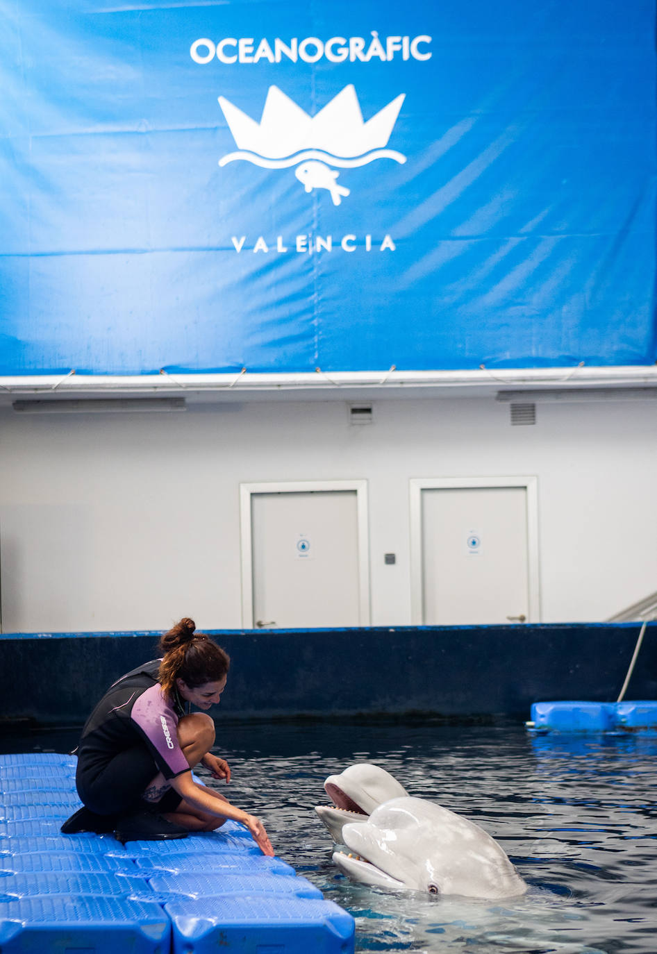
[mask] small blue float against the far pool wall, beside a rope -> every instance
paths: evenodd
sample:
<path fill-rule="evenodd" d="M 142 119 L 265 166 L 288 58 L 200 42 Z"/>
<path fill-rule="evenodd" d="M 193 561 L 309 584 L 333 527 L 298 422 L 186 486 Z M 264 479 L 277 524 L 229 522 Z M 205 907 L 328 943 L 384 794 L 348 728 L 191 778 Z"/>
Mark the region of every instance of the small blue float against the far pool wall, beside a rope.
<path fill-rule="evenodd" d="M 657 733 L 657 701 L 535 702 L 527 726 L 533 732 Z"/>

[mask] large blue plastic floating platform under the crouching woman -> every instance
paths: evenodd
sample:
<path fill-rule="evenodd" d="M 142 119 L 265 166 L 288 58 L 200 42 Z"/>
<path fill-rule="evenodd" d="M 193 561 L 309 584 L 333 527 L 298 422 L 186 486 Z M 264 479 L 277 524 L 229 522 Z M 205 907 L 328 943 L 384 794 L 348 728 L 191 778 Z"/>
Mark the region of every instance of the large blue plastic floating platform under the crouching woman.
<path fill-rule="evenodd" d="M 1 954 L 352 954 L 354 919 L 249 833 L 62 835 L 75 761 L 0 756 Z"/>

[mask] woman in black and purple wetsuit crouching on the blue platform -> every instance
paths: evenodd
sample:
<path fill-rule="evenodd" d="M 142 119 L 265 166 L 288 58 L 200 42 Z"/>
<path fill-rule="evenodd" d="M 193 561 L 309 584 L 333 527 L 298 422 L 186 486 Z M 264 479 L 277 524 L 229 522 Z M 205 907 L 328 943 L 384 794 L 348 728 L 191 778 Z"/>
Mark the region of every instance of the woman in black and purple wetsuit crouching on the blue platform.
<path fill-rule="evenodd" d="M 214 789 L 195 782 L 199 762 L 214 778 L 231 770 L 210 749 L 209 709 L 226 686 L 230 659 L 193 620 L 181 619 L 159 642 L 154 659 L 118 679 L 88 718 L 77 748 L 75 784 L 84 807 L 62 832 L 111 832 L 121 841 L 183 838 L 235 819 L 273 855 L 262 822 Z"/>

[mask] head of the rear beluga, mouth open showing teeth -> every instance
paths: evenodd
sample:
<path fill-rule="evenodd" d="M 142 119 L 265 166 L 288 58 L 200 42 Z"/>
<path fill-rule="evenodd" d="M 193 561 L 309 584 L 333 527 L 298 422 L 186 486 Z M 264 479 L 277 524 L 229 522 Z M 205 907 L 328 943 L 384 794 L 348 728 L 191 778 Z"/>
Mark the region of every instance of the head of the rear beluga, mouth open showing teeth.
<path fill-rule="evenodd" d="M 350 821 L 361 821 L 382 802 L 407 795 L 397 778 L 368 762 L 350 765 L 339 775 L 329 776 L 324 789 L 333 805 L 318 805 L 315 811 L 328 828 L 331 838 L 343 844 L 342 828 Z"/>

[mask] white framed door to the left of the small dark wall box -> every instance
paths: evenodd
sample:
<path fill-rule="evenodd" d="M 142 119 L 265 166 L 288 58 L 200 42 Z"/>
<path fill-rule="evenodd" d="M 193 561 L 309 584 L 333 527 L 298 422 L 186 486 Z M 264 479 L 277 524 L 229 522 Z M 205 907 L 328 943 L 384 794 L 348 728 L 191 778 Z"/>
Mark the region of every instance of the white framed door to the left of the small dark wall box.
<path fill-rule="evenodd" d="M 246 607 L 245 625 L 277 629 L 367 625 L 363 501 L 357 489 L 249 496 L 253 616 L 249 620 Z"/>

